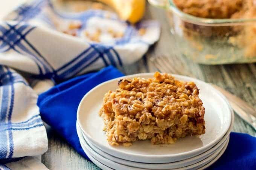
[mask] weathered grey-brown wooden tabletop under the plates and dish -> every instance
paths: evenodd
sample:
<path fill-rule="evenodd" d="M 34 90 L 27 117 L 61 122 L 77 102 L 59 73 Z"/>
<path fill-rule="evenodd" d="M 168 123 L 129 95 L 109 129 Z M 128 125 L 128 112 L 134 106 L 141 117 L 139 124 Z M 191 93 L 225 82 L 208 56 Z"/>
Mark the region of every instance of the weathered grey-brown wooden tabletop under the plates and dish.
<path fill-rule="evenodd" d="M 208 66 L 192 63 L 184 57 L 174 55 L 174 45 L 171 41 L 170 27 L 165 11 L 147 5 L 145 19 L 153 19 L 160 22 L 160 40 L 149 49 L 148 53 L 141 60 L 123 68 L 122 71 L 126 75 L 155 71 L 189 75 L 223 87 L 256 108 L 255 64 Z M 256 135 L 255 131 L 238 116 L 235 116 L 233 131 Z M 47 133 L 49 149 L 42 156 L 42 162 L 50 170 L 99 169 L 96 165 L 76 153 L 51 128 L 47 128 Z"/>

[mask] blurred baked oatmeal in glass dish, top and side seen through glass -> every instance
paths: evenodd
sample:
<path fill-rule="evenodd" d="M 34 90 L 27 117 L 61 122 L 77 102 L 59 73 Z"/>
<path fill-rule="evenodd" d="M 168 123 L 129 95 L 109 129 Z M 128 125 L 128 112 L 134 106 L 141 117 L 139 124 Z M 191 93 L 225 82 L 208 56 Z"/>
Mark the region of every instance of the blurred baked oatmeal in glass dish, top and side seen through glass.
<path fill-rule="evenodd" d="M 200 18 L 256 18 L 255 0 L 173 0 L 173 2 L 181 11 Z M 193 44 L 200 44 L 199 51 L 202 51 L 203 46 L 205 46 L 207 42 L 218 39 L 219 44 L 229 44 L 229 54 L 233 53 L 232 50 L 234 51 L 234 49 L 242 49 L 244 57 L 256 57 L 256 39 L 254 38 L 256 37 L 255 21 L 247 23 L 241 22 L 230 26 L 205 26 L 182 22 L 181 27 L 183 28 L 184 37 L 189 39 L 192 46 Z M 195 46 L 195 48 L 197 47 L 198 45 Z M 225 54 L 226 57 L 232 57 L 232 55 L 229 54 Z M 236 52 L 236 54 L 238 54 L 238 52 Z M 213 56 L 218 58 L 216 55 Z"/>

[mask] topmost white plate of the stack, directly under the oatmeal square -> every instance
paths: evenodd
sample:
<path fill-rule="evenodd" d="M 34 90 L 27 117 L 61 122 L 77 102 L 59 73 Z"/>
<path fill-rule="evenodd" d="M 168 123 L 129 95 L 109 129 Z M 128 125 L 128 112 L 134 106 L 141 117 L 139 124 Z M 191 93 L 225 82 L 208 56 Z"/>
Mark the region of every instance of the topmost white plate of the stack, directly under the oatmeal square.
<path fill-rule="evenodd" d="M 104 94 L 108 90 L 117 89 L 117 81 L 120 78 L 99 84 L 84 96 L 77 113 L 77 120 L 83 133 L 91 143 L 104 152 L 136 162 L 169 163 L 191 158 L 209 150 L 221 140 L 230 127 L 232 110 L 229 103 L 218 90 L 203 81 L 181 75 L 174 76 L 178 80 L 194 81 L 200 89 L 200 98 L 205 107 L 206 133 L 204 135 L 199 138 L 193 136 L 178 139 L 175 144 L 152 145 L 146 140 L 136 141 L 130 147 L 110 146 L 107 143 L 105 132 L 102 132 L 104 122 L 98 112 L 102 106 Z M 153 73 L 126 77 L 152 78 Z"/>

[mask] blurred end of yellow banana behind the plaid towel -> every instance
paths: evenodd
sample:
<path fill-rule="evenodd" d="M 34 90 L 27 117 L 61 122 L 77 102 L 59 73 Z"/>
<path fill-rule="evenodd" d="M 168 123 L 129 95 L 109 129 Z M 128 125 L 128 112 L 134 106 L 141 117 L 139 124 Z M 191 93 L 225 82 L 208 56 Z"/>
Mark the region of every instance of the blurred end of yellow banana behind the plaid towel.
<path fill-rule="evenodd" d="M 145 13 L 145 0 L 98 0 L 113 8 L 122 20 L 136 23 Z"/>

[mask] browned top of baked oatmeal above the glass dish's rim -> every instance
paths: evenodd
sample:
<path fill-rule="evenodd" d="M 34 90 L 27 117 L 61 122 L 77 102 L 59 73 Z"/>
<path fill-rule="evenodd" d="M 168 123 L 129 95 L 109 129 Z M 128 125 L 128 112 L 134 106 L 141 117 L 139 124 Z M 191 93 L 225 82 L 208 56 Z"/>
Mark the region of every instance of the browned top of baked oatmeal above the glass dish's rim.
<path fill-rule="evenodd" d="M 177 7 L 201 18 L 254 18 L 255 0 L 174 0 Z"/>

